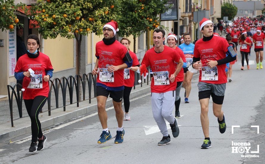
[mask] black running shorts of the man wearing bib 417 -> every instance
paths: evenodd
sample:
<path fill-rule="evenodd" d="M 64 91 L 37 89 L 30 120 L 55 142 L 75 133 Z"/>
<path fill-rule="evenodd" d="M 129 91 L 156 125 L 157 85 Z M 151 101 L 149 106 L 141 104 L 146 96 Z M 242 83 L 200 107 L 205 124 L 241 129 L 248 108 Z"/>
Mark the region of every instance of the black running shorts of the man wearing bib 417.
<path fill-rule="evenodd" d="M 102 86 L 96 86 L 96 96 L 105 96 L 113 99 L 115 102 L 121 102 L 123 97 L 123 90 L 121 91 L 110 91 Z"/>

